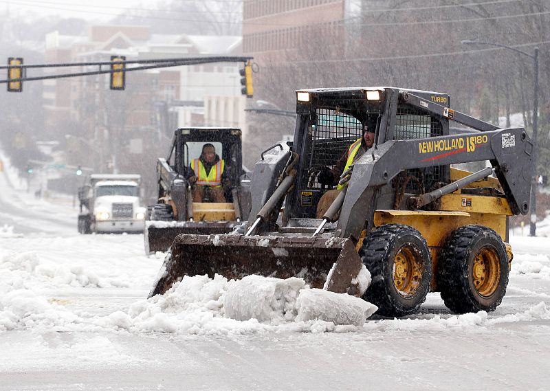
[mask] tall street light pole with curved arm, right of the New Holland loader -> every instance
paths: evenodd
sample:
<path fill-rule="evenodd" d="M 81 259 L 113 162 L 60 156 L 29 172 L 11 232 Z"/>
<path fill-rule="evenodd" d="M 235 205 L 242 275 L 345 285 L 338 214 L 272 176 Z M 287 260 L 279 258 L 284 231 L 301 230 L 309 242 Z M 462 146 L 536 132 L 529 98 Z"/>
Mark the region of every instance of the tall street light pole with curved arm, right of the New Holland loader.
<path fill-rule="evenodd" d="M 521 50 L 516 49 L 515 47 L 510 47 L 507 45 L 501 45 L 500 43 L 492 42 L 481 42 L 481 41 L 470 41 L 465 40 L 461 41 L 463 45 L 489 45 L 502 47 L 503 49 L 510 49 L 514 52 L 518 52 L 524 56 L 533 58 L 533 164 L 535 166 L 533 176 L 531 177 L 531 197 L 529 203 L 531 203 L 531 216 L 529 221 L 529 236 L 536 236 L 537 230 L 537 186 L 536 181 L 536 170 L 537 170 L 537 158 L 538 158 L 538 144 L 537 144 L 537 133 L 538 133 L 538 47 L 535 47 L 534 53 L 529 54 L 522 52 Z"/>

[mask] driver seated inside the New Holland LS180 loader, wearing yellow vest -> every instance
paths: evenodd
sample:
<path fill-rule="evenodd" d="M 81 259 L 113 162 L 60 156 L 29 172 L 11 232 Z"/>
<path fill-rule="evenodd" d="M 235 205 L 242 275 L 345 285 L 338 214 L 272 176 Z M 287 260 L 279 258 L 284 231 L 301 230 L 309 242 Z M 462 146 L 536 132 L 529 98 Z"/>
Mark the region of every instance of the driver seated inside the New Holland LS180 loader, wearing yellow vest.
<path fill-rule="evenodd" d="M 340 194 L 342 188 L 344 188 L 344 186 L 347 186 L 347 184 L 338 185 L 338 181 L 340 181 L 340 175 L 342 175 L 342 172 L 346 171 L 355 160 L 362 157 L 366 150 L 373 146 L 375 135 L 374 126 L 373 129 L 369 129 L 369 126 L 364 125 L 363 129 L 363 137 L 358 138 L 353 144 L 351 144 L 351 146 L 349 146 L 349 148 L 347 148 L 342 157 L 340 157 L 340 160 L 338 161 L 336 166 L 334 166 L 332 169 L 328 167 L 321 168 L 317 176 L 317 181 L 322 185 L 337 187 L 336 189 L 329 190 L 325 192 L 325 194 L 322 194 L 322 197 L 317 204 L 317 219 L 322 219 L 323 214 L 327 212 L 331 203 L 333 203 L 336 197 L 338 197 L 338 194 Z"/>

